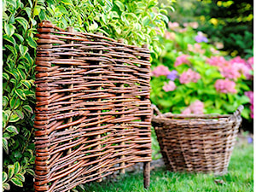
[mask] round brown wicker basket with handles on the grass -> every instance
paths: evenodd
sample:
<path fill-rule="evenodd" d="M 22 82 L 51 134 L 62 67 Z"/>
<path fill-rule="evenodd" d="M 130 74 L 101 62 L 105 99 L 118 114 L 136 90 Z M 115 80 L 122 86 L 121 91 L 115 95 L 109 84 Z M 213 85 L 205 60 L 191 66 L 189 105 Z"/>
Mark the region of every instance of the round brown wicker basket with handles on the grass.
<path fill-rule="evenodd" d="M 158 113 L 152 124 L 166 168 L 172 172 L 227 172 L 242 106 L 232 115 Z"/>

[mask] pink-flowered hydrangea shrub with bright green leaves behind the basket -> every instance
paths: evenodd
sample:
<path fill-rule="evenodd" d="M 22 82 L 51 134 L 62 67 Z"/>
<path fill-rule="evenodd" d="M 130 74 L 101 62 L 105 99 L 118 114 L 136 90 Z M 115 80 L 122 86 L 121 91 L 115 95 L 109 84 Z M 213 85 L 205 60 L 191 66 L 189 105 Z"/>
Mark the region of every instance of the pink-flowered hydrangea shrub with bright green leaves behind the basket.
<path fill-rule="evenodd" d="M 169 23 L 160 43 L 165 50 L 153 59 L 151 100 L 162 112 L 233 113 L 253 118 L 253 57 L 224 55 L 195 22 L 183 26 Z M 172 34 L 172 35 L 171 35 Z"/>

